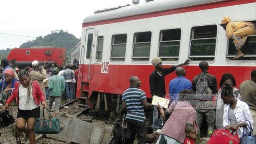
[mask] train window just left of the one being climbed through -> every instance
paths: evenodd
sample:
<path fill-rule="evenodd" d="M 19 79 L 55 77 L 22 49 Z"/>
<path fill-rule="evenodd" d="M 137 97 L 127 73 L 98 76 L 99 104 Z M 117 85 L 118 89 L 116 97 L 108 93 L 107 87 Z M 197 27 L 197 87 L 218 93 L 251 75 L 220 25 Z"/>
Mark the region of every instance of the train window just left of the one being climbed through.
<path fill-rule="evenodd" d="M 215 57 L 217 25 L 192 27 L 189 58 L 192 61 L 213 61 Z"/>

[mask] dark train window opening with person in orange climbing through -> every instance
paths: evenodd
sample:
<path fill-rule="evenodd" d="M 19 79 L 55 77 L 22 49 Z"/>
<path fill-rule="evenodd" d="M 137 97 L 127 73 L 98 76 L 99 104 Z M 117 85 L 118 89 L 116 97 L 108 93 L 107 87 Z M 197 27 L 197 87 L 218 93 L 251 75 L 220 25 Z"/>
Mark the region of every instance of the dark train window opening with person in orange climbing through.
<path fill-rule="evenodd" d="M 251 21 L 255 24 L 255 21 Z M 241 48 L 244 56 L 238 59 L 233 59 L 237 53 L 234 42 L 228 39 L 227 58 L 231 61 L 255 61 L 256 60 L 256 35 L 248 35 L 245 45 Z"/>

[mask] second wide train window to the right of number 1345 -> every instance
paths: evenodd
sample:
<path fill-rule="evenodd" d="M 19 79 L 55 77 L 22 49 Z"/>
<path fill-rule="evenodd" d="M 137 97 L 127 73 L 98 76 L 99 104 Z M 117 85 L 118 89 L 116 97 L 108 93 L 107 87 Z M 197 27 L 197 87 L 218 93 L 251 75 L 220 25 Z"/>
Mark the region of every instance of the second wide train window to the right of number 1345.
<path fill-rule="evenodd" d="M 151 45 L 151 32 L 134 33 L 133 53 L 134 61 L 148 61 Z"/>

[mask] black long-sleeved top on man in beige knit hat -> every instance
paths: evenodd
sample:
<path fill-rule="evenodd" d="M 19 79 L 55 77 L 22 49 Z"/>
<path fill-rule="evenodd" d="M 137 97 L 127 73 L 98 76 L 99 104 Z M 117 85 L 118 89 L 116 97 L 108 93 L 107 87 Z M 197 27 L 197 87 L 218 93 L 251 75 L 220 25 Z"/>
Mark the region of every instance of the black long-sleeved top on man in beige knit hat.
<path fill-rule="evenodd" d="M 162 69 L 162 76 L 158 74 L 156 71 L 152 72 L 149 76 L 149 84 L 150 84 L 150 94 L 157 95 L 160 97 L 165 96 L 165 75 L 175 71 L 176 67 L 172 66 L 168 69 Z"/>

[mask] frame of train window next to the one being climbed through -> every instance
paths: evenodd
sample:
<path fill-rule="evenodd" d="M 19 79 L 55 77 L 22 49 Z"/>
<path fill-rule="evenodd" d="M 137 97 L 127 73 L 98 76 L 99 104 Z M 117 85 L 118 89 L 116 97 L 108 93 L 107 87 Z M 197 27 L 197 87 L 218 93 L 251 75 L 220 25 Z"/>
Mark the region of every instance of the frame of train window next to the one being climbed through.
<path fill-rule="evenodd" d="M 200 27 L 200 26 L 211 26 L 211 25 L 215 25 L 216 26 L 216 37 L 212 37 L 212 38 L 199 38 L 199 39 L 194 39 L 194 31 L 192 31 L 192 29 L 194 27 Z M 189 50 L 188 50 L 188 58 L 214 58 L 212 60 L 204 60 L 204 59 L 200 59 L 200 60 L 193 60 L 193 61 L 215 61 L 216 59 L 216 53 L 217 53 L 217 45 L 218 45 L 218 31 L 219 31 L 219 27 L 217 23 L 210 23 L 210 24 L 203 24 L 203 25 L 193 25 L 191 27 L 191 36 L 190 36 L 190 40 L 189 40 Z M 207 39 L 215 39 L 216 40 L 216 44 L 215 44 L 215 52 L 214 55 L 191 55 L 191 42 L 192 40 L 207 40 Z"/>

